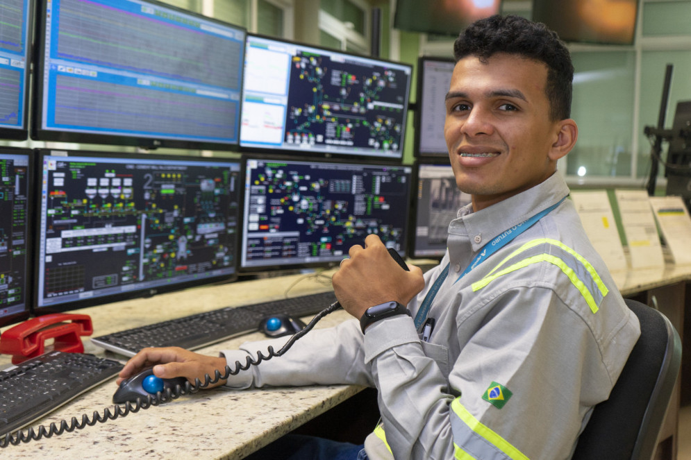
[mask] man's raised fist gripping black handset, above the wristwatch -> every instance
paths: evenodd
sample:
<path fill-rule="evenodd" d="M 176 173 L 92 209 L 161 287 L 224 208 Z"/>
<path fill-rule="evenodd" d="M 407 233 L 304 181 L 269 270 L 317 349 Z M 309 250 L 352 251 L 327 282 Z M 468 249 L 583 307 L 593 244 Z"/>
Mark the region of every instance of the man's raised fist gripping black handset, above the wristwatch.
<path fill-rule="evenodd" d="M 413 265 L 410 271 L 401 269 L 376 235 L 365 239 L 365 248 L 351 247 L 349 255 L 333 275 L 333 290 L 343 309 L 358 319 L 369 307 L 390 300 L 407 305 L 424 289 L 422 270 Z"/>

